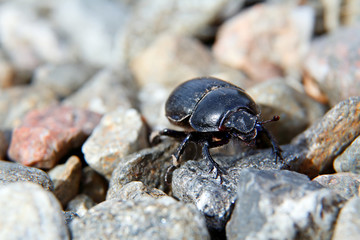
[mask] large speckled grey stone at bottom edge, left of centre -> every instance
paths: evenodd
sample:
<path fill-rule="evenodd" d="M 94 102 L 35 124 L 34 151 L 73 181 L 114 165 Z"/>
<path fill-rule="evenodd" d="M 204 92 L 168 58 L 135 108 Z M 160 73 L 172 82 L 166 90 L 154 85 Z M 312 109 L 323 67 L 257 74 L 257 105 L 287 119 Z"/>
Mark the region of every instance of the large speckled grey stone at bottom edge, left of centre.
<path fill-rule="evenodd" d="M 203 216 L 170 197 L 108 200 L 70 224 L 76 239 L 210 239 Z"/>

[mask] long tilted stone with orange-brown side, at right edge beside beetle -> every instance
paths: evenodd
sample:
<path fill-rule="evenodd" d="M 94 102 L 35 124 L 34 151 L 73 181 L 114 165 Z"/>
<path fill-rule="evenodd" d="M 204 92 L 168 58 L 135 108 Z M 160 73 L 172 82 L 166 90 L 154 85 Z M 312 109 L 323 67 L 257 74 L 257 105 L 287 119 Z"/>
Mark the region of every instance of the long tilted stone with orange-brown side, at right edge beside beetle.
<path fill-rule="evenodd" d="M 292 143 L 304 148 L 294 162 L 298 171 L 315 177 L 332 168 L 334 159 L 360 135 L 360 97 L 340 102 Z"/>

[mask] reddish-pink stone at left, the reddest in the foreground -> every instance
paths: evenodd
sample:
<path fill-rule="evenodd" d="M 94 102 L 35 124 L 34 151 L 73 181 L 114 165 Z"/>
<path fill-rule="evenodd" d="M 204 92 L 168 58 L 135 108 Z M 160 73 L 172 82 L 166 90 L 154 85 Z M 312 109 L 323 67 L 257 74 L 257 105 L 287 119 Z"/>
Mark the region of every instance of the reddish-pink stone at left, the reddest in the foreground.
<path fill-rule="evenodd" d="M 73 107 L 31 111 L 14 130 L 8 155 L 23 165 L 52 168 L 81 146 L 99 120 L 99 114 Z"/>

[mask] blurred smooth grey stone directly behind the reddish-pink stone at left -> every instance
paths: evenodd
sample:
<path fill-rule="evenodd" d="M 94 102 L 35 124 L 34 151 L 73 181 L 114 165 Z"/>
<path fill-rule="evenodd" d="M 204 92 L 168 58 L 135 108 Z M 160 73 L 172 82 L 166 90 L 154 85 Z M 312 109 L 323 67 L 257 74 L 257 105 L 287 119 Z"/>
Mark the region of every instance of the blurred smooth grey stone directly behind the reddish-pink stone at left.
<path fill-rule="evenodd" d="M 32 81 L 63 98 L 80 88 L 95 71 L 83 63 L 46 64 L 36 69 Z"/>

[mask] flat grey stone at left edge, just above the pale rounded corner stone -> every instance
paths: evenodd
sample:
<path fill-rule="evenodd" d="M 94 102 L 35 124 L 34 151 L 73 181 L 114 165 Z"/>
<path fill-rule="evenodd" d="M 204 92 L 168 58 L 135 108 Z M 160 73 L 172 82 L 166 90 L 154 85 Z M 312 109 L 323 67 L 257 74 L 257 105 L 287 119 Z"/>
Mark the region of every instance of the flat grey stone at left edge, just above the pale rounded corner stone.
<path fill-rule="evenodd" d="M 33 182 L 41 185 L 45 190 L 54 190 L 54 183 L 44 171 L 18 163 L 0 161 L 0 185 L 13 182 Z"/>

